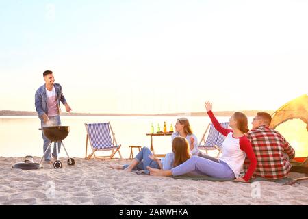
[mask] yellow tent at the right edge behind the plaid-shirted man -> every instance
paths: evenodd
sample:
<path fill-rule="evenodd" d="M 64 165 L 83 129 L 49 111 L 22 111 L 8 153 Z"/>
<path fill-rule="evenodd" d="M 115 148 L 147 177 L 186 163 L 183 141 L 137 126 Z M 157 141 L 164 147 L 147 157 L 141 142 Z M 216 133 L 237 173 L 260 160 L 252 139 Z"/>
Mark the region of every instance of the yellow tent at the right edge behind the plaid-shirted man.
<path fill-rule="evenodd" d="M 276 110 L 272 114 L 272 123 L 270 123 L 270 128 L 274 129 L 277 125 L 285 123 L 287 120 L 298 118 L 306 123 L 306 129 L 308 131 L 308 95 L 303 94 L 285 103 L 282 107 Z M 303 158 L 305 159 L 305 158 Z M 303 161 L 302 158 L 298 157 L 298 161 Z M 308 158 L 307 158 L 308 159 Z M 305 163 L 308 163 L 306 159 Z"/>

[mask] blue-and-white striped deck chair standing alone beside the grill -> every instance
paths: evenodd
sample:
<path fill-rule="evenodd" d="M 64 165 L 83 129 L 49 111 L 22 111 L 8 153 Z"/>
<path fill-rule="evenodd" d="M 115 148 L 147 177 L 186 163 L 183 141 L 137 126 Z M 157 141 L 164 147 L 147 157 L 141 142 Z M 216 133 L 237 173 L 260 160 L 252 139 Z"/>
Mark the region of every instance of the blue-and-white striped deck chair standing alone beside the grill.
<path fill-rule="evenodd" d="M 91 159 L 92 156 L 94 159 L 107 157 L 112 159 L 116 152 L 120 155 L 122 159 L 122 155 L 120 153 L 120 144 L 116 142 L 115 134 L 112 131 L 112 127 L 110 123 L 85 123 L 87 137 L 86 137 L 86 159 Z M 111 133 L 110 133 L 111 131 Z M 112 135 L 111 135 L 112 134 Z M 88 142 L 90 142 L 90 146 L 92 148 L 92 153 L 87 156 L 88 152 Z M 95 152 L 97 151 L 111 151 L 112 154 L 110 156 L 100 156 L 97 157 Z"/>

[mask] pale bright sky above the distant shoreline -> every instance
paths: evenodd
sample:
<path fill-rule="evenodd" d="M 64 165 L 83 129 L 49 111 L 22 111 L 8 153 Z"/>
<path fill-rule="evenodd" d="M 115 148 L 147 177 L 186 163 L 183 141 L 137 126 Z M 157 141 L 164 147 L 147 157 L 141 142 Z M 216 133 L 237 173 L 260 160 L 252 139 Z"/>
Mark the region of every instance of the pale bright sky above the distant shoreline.
<path fill-rule="evenodd" d="M 277 110 L 308 90 L 307 12 L 304 0 L 0 0 L 0 110 L 34 111 L 44 70 L 73 112 Z"/>

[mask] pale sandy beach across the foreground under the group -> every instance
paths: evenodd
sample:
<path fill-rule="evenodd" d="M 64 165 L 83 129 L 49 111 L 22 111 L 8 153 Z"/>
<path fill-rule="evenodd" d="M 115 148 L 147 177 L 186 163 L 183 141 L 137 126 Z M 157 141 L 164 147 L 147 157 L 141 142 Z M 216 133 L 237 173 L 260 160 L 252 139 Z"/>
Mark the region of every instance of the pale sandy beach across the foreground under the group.
<path fill-rule="evenodd" d="M 308 181 L 295 185 L 194 181 L 108 167 L 128 164 L 129 159 L 76 158 L 75 166 L 67 166 L 64 158 L 60 170 L 48 164 L 40 170 L 12 169 L 23 159 L 0 158 L 0 205 L 308 205 Z"/>

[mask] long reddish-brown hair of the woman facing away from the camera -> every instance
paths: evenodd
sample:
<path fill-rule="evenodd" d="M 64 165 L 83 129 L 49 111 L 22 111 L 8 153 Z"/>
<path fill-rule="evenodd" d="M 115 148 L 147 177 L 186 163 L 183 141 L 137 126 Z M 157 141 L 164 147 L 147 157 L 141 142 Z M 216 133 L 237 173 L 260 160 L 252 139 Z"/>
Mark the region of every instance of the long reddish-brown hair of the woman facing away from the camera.
<path fill-rule="evenodd" d="M 175 153 L 173 166 L 179 166 L 190 159 L 190 146 L 186 138 L 177 136 L 172 140 L 172 152 Z"/>

